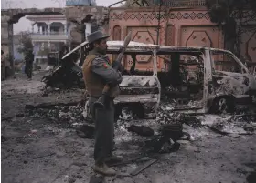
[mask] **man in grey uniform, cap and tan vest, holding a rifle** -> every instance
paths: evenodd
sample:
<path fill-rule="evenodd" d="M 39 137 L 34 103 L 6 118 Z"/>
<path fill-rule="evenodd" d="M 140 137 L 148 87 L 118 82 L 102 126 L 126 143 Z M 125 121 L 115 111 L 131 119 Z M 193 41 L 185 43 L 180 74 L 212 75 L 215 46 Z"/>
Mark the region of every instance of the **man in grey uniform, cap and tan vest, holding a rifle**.
<path fill-rule="evenodd" d="M 94 171 L 105 176 L 114 176 L 115 170 L 106 163 L 110 160 L 118 161 L 122 158 L 112 155 L 114 135 L 114 103 L 113 99 L 120 93 L 119 84 L 122 82 L 122 66 L 119 62 L 111 63 L 107 51 L 107 38 L 101 31 L 96 31 L 87 36 L 91 52 L 86 57 L 82 66 L 83 78 L 89 95 L 89 107 L 95 122 L 94 145 Z M 117 69 L 113 69 L 113 67 Z M 93 107 L 101 97 L 104 86 L 111 86 L 110 93 L 104 102 L 104 108 Z"/>

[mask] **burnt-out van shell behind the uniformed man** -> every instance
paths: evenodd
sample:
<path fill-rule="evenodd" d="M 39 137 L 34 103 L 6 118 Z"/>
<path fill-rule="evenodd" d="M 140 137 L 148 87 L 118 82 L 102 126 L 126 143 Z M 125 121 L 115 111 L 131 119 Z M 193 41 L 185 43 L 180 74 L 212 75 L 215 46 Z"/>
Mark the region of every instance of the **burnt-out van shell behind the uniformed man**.
<path fill-rule="evenodd" d="M 108 41 L 108 46 L 114 60 L 123 41 Z M 138 56 L 149 57 L 148 62 L 138 62 Z M 164 69 L 157 69 L 158 56 L 167 59 Z M 173 101 L 173 111 L 187 113 L 229 112 L 237 103 L 251 102 L 256 96 L 255 77 L 226 50 L 130 42 L 123 66 L 116 117 L 122 115 L 123 107 L 129 107 L 135 117 L 155 118 L 161 94 Z M 91 117 L 88 107 L 84 114 Z"/>

